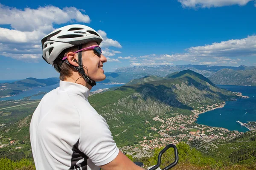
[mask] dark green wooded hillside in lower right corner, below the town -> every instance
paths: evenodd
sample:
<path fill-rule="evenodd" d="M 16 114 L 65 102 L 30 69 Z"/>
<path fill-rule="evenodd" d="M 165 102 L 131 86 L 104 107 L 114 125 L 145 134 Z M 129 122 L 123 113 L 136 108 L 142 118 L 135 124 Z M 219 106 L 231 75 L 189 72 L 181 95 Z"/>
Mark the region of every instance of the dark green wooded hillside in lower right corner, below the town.
<path fill-rule="evenodd" d="M 231 162 L 232 164 L 256 163 L 256 130 L 209 143 L 194 140 L 190 142 L 190 146 L 201 150 L 205 156 L 210 156 L 218 161 Z"/>

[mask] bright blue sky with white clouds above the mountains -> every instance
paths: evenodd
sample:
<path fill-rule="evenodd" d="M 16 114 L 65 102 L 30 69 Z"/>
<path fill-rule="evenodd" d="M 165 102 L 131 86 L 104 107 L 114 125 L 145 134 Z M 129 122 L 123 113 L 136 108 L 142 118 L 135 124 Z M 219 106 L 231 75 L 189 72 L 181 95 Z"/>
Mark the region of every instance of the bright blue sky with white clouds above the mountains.
<path fill-rule="evenodd" d="M 256 65 L 255 0 L 0 2 L 0 79 L 58 77 L 41 38 L 84 24 L 104 37 L 105 71 L 135 65 Z"/>

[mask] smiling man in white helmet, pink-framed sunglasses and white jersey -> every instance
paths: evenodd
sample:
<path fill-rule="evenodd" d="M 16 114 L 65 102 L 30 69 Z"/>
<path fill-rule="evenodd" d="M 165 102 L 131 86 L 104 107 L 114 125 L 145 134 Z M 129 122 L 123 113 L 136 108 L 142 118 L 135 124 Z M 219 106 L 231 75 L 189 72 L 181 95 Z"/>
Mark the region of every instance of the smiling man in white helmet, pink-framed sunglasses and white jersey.
<path fill-rule="evenodd" d="M 91 88 L 105 79 L 102 40 L 84 25 L 64 26 L 41 40 L 60 85 L 41 99 L 30 123 L 37 170 L 143 170 L 119 151 L 106 120 L 88 102 Z"/>

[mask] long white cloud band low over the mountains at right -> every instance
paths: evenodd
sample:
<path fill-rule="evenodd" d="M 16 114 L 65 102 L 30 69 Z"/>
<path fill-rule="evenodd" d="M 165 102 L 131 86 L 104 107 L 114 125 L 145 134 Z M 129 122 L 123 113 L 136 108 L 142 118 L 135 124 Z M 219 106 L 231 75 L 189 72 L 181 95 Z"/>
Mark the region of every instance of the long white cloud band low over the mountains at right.
<path fill-rule="evenodd" d="M 149 54 L 137 57 L 131 65 L 172 65 L 172 62 L 186 61 L 202 65 L 226 65 L 241 63 L 240 57 L 256 56 L 256 36 L 239 40 L 214 42 L 210 45 L 195 46 L 185 49 L 186 53 Z M 232 59 L 236 57 L 236 59 Z M 237 58 L 239 57 L 239 58 Z M 120 58 L 121 59 L 121 58 Z"/>

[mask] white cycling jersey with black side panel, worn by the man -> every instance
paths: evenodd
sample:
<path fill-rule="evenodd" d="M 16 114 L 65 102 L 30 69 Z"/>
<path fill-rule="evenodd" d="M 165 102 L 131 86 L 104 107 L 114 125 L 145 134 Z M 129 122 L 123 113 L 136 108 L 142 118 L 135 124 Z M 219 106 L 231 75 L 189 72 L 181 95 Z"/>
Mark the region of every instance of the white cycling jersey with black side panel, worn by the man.
<path fill-rule="evenodd" d="M 30 123 L 37 170 L 99 170 L 119 153 L 106 120 L 88 102 L 89 89 L 60 81 Z"/>

